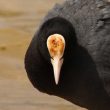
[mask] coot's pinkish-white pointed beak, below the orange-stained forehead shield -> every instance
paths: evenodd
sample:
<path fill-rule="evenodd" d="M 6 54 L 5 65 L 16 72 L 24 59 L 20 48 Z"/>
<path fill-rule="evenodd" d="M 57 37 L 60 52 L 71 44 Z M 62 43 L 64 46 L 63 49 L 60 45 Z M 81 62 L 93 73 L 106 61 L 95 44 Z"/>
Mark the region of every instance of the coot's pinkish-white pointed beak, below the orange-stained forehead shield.
<path fill-rule="evenodd" d="M 61 67 L 62 67 L 62 64 L 63 64 L 63 59 L 60 59 L 60 58 L 56 57 L 54 59 L 51 59 L 51 63 L 52 63 L 52 66 L 53 66 L 55 83 L 56 83 L 56 85 L 58 85 L 59 78 L 60 78 L 60 71 L 61 71 Z"/>

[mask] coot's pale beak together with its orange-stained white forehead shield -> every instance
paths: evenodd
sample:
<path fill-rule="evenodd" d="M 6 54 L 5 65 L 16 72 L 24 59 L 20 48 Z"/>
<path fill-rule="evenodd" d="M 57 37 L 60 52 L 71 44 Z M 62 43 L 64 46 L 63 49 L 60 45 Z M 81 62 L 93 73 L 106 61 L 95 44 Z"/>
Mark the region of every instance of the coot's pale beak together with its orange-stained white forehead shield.
<path fill-rule="evenodd" d="M 55 83 L 58 84 L 60 70 L 63 64 L 63 54 L 65 50 L 65 39 L 60 34 L 52 34 L 47 39 L 47 48 L 53 66 Z"/>

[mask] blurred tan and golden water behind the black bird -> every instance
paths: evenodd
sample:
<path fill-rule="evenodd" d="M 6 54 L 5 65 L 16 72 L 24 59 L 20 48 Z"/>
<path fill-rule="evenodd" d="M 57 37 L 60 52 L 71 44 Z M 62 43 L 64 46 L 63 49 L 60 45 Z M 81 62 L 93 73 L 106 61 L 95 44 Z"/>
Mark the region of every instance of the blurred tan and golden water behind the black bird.
<path fill-rule="evenodd" d="M 24 54 L 41 19 L 62 1 L 0 0 L 0 110 L 79 110 L 35 90 L 24 70 Z"/>

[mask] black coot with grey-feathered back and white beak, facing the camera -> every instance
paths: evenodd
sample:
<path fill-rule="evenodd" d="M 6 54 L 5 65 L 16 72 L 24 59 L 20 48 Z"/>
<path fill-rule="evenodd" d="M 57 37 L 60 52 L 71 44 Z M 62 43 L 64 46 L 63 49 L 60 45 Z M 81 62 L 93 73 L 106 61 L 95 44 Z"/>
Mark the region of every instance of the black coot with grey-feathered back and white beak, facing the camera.
<path fill-rule="evenodd" d="M 41 92 L 110 110 L 110 1 L 56 5 L 30 43 L 25 68 Z"/>

